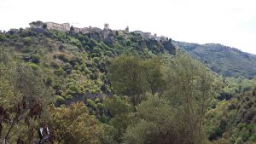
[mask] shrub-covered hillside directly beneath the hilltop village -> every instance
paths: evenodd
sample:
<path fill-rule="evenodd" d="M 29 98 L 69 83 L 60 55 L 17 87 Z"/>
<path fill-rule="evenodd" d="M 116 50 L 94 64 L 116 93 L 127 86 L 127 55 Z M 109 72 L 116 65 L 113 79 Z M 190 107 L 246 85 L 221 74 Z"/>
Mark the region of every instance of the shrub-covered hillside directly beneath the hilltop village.
<path fill-rule="evenodd" d="M 172 39 L 156 40 L 135 32 L 61 32 L 44 28 L 0 32 L 0 49 L 15 55 L 35 70 L 44 71 L 45 80 L 59 99 L 80 95 L 111 94 L 108 63 L 121 54 L 174 55 Z"/>

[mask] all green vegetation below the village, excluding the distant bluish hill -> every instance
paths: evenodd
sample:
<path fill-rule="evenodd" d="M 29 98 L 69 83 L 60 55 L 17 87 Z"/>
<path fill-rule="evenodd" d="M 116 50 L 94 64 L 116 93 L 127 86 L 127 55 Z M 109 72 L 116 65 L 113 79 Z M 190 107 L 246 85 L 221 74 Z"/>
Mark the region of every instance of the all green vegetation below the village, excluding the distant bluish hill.
<path fill-rule="evenodd" d="M 31 28 L 0 33 L 0 50 L 1 141 L 47 124 L 55 143 L 256 142 L 255 80 L 222 78 L 172 39 Z"/>

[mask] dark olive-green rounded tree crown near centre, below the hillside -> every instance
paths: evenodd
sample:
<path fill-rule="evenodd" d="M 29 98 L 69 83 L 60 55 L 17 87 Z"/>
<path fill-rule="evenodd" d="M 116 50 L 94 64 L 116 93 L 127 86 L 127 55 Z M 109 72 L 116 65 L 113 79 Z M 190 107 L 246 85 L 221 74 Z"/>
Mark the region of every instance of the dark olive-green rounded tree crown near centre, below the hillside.
<path fill-rule="evenodd" d="M 135 107 L 142 101 L 146 88 L 141 59 L 137 56 L 121 55 L 111 60 L 109 78 L 117 94 L 131 97 L 136 111 Z"/>

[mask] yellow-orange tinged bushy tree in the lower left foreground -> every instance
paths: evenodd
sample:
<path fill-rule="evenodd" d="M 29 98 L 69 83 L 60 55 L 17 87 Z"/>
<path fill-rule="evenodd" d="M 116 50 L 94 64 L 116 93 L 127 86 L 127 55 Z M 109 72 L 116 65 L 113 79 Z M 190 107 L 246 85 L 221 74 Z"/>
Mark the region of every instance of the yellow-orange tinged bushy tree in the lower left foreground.
<path fill-rule="evenodd" d="M 55 130 L 57 143 L 108 143 L 104 140 L 104 127 L 90 116 L 83 102 L 67 108 L 52 106 L 49 124 Z"/>

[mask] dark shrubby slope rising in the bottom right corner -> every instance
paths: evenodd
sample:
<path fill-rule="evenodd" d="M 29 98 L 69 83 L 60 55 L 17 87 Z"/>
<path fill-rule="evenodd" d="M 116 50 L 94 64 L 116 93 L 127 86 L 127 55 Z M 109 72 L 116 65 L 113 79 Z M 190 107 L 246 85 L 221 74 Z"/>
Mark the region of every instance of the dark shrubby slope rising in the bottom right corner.
<path fill-rule="evenodd" d="M 210 141 L 253 144 L 256 141 L 256 88 L 236 94 L 230 101 L 219 101 L 207 112 Z M 240 142 L 239 142 L 240 141 Z"/>

